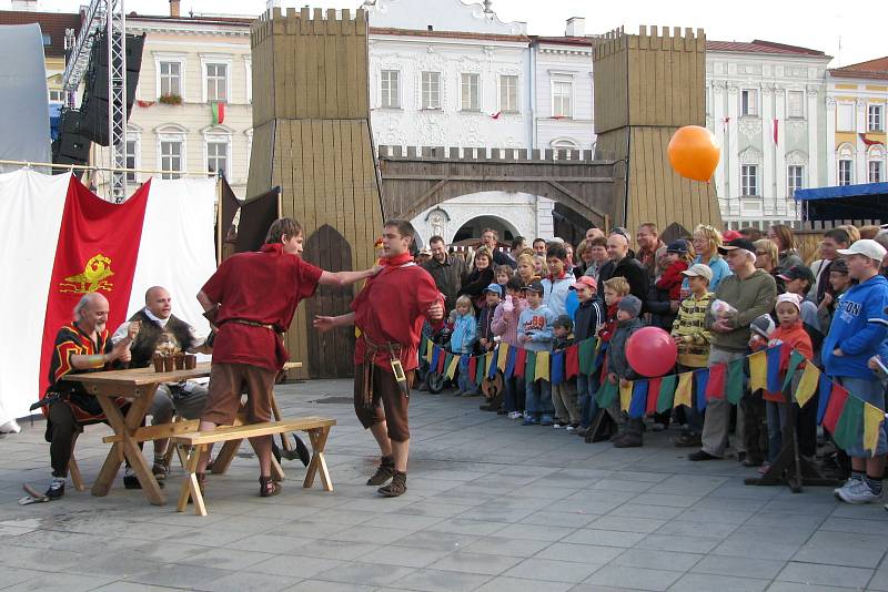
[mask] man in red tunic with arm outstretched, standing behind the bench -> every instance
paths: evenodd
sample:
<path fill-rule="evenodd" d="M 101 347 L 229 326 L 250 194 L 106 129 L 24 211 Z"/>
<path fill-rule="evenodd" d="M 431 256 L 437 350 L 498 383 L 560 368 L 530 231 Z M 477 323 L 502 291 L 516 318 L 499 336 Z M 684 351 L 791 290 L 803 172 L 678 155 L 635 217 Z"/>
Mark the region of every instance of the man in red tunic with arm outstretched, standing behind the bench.
<path fill-rule="evenodd" d="M 324 272 L 302 261 L 302 243 L 296 221 L 276 220 L 261 251 L 225 259 L 198 294 L 218 327 L 201 430 L 234 422 L 244 386 L 250 421 L 270 421 L 274 378 L 290 357 L 280 334 L 290 327 L 299 303 L 313 296 L 319 284 L 349 286 L 380 269 Z M 276 496 L 281 486 L 271 480 L 272 437 L 251 438 L 250 443 L 259 456 L 260 496 Z M 201 484 L 208 460 L 204 456 L 198 468 Z"/>

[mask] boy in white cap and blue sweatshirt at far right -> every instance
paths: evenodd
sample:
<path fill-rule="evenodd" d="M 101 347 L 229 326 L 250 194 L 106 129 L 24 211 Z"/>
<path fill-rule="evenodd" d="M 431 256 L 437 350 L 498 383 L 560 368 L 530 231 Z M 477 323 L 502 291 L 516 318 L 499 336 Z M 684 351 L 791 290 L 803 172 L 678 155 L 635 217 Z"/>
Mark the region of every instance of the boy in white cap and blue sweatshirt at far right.
<path fill-rule="evenodd" d="M 848 275 L 858 284 L 841 295 L 829 334 L 823 348 L 826 375 L 844 386 L 852 396 L 885 409 L 885 389 L 868 367 L 879 354 L 888 335 L 885 319 L 888 306 L 888 279 L 879 275 L 885 247 L 876 241 L 862 239 L 849 248 L 838 249 L 848 264 Z M 835 496 L 848 503 L 868 503 L 881 497 L 881 476 L 888 441 L 885 428 L 879 430 L 876 450 L 862 446 L 862 426 L 855 445 L 846 450 L 851 458 L 851 477 Z"/>

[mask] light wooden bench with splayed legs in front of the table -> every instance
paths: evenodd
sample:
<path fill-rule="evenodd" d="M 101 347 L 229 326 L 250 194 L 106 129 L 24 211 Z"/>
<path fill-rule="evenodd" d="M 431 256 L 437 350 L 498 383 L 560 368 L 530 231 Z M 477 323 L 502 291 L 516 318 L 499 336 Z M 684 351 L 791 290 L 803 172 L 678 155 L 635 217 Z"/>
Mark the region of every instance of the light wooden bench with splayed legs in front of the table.
<path fill-rule="evenodd" d="M 240 442 L 248 438 L 274 436 L 275 433 L 284 433 L 287 431 L 305 431 L 309 433 L 309 439 L 312 443 L 312 460 L 309 463 L 302 487 L 312 487 L 315 476 L 320 473 L 324 490 L 333 491 L 333 482 L 330 479 L 330 471 L 327 470 L 326 460 L 324 459 L 324 447 L 326 446 L 330 429 L 335 425 L 336 420 L 331 418 L 301 417 L 282 421 L 230 426 L 210 431 L 195 431 L 192 433 L 178 433 L 172 436 L 172 443 L 189 447 L 185 465 L 186 474 L 182 481 L 179 504 L 175 509 L 180 512 L 184 512 L 189 499 L 191 499 L 194 504 L 194 513 L 206 516 L 206 504 L 201 494 L 200 487 L 198 486 L 196 470 L 198 461 L 209 445 L 215 442 Z M 274 469 L 276 469 L 274 472 L 279 472 L 280 477 L 283 478 L 283 471 L 273 460 L 274 459 L 272 459 L 272 465 L 275 466 Z M 213 463 L 213 472 L 216 472 L 215 462 Z"/>

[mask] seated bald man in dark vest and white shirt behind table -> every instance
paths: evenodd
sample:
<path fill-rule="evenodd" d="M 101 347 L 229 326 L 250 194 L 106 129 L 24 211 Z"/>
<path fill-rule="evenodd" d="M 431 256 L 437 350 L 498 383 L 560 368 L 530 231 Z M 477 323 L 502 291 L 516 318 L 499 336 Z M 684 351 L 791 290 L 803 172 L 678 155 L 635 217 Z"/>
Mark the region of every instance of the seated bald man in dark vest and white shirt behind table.
<path fill-rule="evenodd" d="M 152 364 L 152 357 L 161 343 L 171 343 L 176 349 L 189 354 L 209 354 L 212 349 L 206 345 L 206 336 L 200 335 L 188 323 L 172 314 L 172 297 L 161 287 L 153 286 L 145 292 L 145 306 L 122 324 L 111 337 L 112 344 L 118 344 L 127 337 L 128 330 L 140 327 L 135 340 L 130 346 L 132 359 L 130 368 L 147 368 Z M 151 425 L 169 423 L 173 419 L 173 408 L 176 415 L 185 419 L 200 419 L 206 402 L 206 387 L 195 381 L 163 384 L 158 387 L 154 400 L 148 415 Z M 151 471 L 162 481 L 167 478 L 168 440 L 154 440 L 154 465 Z M 135 481 L 138 484 L 138 481 Z M 127 483 L 127 487 L 131 487 Z"/>

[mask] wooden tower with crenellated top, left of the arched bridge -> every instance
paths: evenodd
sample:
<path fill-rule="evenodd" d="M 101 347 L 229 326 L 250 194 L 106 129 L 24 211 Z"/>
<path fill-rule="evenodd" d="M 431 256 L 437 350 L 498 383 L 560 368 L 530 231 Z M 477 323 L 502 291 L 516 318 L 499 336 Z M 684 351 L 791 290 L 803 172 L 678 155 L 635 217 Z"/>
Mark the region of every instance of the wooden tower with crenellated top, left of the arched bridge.
<path fill-rule="evenodd" d="M 382 228 L 370 133 L 363 10 L 273 9 L 251 29 L 253 147 L 248 194 L 282 188 L 284 216 L 305 231 L 303 257 L 331 272 L 365 269 Z M 311 329 L 315 313 L 346 313 L 353 288 L 320 287 L 287 333 L 299 378 L 353 374 L 354 335 Z"/>

